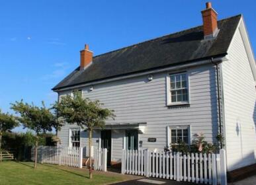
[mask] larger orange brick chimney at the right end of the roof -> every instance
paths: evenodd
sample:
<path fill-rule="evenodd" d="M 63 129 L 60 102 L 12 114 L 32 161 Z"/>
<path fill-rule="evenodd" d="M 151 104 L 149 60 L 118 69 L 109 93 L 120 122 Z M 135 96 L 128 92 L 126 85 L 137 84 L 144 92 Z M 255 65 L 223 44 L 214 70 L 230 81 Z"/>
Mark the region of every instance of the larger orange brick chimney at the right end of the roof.
<path fill-rule="evenodd" d="M 204 27 L 204 39 L 215 38 L 219 32 L 217 24 L 218 13 L 212 9 L 212 3 L 206 3 L 206 9 L 201 13 Z"/>

